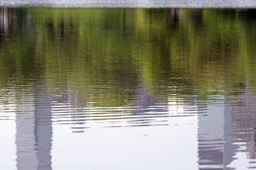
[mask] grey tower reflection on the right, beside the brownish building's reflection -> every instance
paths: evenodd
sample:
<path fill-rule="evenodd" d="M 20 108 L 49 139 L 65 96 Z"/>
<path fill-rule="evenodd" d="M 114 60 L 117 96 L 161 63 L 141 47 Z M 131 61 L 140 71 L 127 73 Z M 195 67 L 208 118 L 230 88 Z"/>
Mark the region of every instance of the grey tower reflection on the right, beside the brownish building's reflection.
<path fill-rule="evenodd" d="M 236 146 L 231 136 L 230 106 L 225 96 L 214 96 L 198 115 L 198 168 L 232 169 Z"/>

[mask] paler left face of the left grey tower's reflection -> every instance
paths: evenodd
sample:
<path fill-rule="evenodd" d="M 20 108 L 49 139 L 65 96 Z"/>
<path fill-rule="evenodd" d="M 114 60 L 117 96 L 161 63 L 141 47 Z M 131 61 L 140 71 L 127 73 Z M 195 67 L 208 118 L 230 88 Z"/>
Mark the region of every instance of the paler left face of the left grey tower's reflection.
<path fill-rule="evenodd" d="M 35 104 L 33 94 L 16 107 L 17 169 L 36 169 L 38 159 L 35 138 Z"/>

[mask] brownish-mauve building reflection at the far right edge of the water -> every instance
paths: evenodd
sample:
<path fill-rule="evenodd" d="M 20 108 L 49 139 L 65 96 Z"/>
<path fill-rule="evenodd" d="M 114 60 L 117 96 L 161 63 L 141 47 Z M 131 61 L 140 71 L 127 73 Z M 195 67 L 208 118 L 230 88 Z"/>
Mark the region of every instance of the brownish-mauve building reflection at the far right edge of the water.
<path fill-rule="evenodd" d="M 234 141 L 245 143 L 249 160 L 256 159 L 256 95 L 252 90 L 234 96 L 231 106 Z"/>

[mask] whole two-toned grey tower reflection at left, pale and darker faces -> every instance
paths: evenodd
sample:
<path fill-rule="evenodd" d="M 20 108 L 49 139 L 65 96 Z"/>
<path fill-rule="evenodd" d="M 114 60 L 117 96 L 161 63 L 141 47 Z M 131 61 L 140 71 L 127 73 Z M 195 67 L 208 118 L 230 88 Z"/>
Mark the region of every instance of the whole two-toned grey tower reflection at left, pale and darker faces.
<path fill-rule="evenodd" d="M 24 94 L 16 108 L 17 169 L 51 168 L 51 96 L 45 87 Z"/>

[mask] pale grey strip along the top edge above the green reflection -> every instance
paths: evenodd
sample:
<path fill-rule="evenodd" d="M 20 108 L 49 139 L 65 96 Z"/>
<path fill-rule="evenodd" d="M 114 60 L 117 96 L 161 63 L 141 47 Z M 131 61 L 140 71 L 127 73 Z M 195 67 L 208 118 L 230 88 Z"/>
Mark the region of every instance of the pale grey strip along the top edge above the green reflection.
<path fill-rule="evenodd" d="M 255 0 L 0 0 L 0 6 L 53 8 L 256 8 Z"/>

